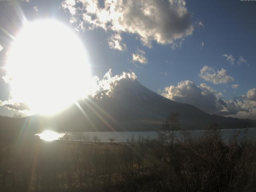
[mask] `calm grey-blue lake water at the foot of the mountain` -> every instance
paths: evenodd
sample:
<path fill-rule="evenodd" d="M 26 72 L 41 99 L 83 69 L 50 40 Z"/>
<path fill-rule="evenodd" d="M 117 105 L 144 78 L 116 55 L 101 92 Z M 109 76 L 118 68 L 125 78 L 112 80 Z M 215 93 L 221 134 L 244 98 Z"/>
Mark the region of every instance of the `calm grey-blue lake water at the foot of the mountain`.
<path fill-rule="evenodd" d="M 229 141 L 237 132 L 240 132 L 238 135 L 238 139 L 242 138 L 244 135 L 245 129 L 223 129 L 220 130 L 222 134 L 222 138 L 225 141 Z M 188 131 L 192 138 L 198 138 L 205 130 L 191 130 Z M 40 134 L 38 134 L 40 136 Z M 42 134 L 43 135 L 43 134 Z M 56 135 L 56 133 L 55 133 Z M 134 140 L 138 140 L 138 137 L 143 136 L 144 138 L 156 139 L 158 137 L 157 132 L 155 131 L 146 131 L 146 132 L 59 132 L 57 136 L 64 136 L 65 140 L 69 141 L 85 141 L 85 138 L 90 138 L 90 141 L 93 141 L 94 136 L 99 138 L 100 142 L 110 142 L 109 139 L 113 138 L 115 142 L 127 142 L 128 139 L 134 138 Z M 46 137 L 47 138 L 47 137 Z M 246 138 L 248 140 L 256 139 L 256 128 L 249 128 L 246 133 Z M 53 140 L 57 140 L 57 138 Z"/>

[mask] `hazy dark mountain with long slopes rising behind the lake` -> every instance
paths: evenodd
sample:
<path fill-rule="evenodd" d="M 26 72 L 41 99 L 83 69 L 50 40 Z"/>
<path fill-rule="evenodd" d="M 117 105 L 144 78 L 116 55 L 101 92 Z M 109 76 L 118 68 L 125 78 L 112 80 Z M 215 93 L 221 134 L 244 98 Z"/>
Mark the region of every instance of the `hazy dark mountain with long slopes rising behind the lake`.
<path fill-rule="evenodd" d="M 220 128 L 248 126 L 245 120 L 210 115 L 195 106 L 164 98 L 137 80 L 121 80 L 114 89 L 80 100 L 78 106 L 74 104 L 54 116 L 35 115 L 18 120 L 2 117 L 0 121 L 1 129 L 23 127 L 29 132 L 149 131 L 157 130 L 170 112 L 178 112 L 185 129 L 204 129 L 214 122 Z M 250 126 L 255 126 L 255 121 L 250 121 Z"/>

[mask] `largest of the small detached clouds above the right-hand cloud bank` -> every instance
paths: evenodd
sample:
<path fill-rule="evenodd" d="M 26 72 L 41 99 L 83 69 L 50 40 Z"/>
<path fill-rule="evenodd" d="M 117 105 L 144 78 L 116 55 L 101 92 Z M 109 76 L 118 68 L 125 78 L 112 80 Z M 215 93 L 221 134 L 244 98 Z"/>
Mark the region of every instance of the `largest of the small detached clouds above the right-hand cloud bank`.
<path fill-rule="evenodd" d="M 213 82 L 214 84 L 228 83 L 234 81 L 234 78 L 229 76 L 226 70 L 221 69 L 220 71 L 218 70 L 216 72 L 213 68 L 209 66 L 204 66 L 200 70 L 199 76 L 206 81 Z"/>

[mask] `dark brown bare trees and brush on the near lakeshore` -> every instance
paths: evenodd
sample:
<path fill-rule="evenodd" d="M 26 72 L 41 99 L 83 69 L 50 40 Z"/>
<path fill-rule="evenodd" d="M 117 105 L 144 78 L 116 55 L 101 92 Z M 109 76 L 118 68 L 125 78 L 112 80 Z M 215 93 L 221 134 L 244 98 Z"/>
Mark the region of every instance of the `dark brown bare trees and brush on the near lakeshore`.
<path fill-rule="evenodd" d="M 32 137 L 1 144 L 0 191 L 255 191 L 255 144 L 238 134 L 226 143 L 216 125 L 198 139 L 183 132 L 177 140 L 176 120 L 165 122 L 169 128 L 163 126 L 158 140 L 139 136 L 107 144 Z"/>

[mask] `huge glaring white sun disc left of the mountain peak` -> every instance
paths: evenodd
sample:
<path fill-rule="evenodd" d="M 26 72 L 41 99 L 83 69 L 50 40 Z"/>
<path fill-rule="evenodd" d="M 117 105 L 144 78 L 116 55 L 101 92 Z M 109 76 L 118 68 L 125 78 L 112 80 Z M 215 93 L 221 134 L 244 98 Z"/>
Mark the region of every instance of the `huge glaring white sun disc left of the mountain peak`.
<path fill-rule="evenodd" d="M 6 65 L 12 99 L 30 111 L 54 114 L 90 92 L 90 66 L 81 40 L 55 20 L 24 24 Z"/>

